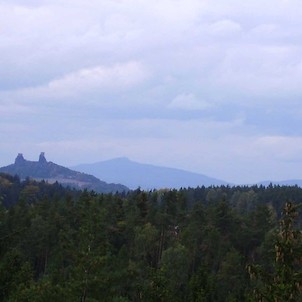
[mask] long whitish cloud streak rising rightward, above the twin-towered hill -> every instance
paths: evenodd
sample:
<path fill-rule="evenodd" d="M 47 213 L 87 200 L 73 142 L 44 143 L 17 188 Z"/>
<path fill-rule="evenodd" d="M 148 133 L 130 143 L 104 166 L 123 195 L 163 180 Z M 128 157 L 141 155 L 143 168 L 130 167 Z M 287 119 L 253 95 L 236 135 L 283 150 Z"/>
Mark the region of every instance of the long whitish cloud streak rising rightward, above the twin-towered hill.
<path fill-rule="evenodd" d="M 95 66 L 50 81 L 47 85 L 19 89 L 2 93 L 2 98 L 19 103 L 39 104 L 56 101 L 67 103 L 106 103 L 102 95 L 122 93 L 142 84 L 150 76 L 149 71 L 140 62 L 117 63 L 112 66 Z M 1 96 L 1 94 L 0 94 Z M 99 98 L 97 97 L 99 96 Z"/>

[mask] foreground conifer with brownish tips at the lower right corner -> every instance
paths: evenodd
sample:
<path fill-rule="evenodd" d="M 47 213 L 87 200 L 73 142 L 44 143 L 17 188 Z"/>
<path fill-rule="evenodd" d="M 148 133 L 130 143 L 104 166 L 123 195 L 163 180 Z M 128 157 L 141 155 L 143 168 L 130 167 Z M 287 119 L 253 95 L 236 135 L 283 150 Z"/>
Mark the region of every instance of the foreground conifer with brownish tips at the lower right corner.
<path fill-rule="evenodd" d="M 256 301 L 302 301 L 301 231 L 295 228 L 298 205 L 287 202 L 275 239 L 275 263 L 272 271 L 261 265 L 248 266 L 255 280 Z"/>

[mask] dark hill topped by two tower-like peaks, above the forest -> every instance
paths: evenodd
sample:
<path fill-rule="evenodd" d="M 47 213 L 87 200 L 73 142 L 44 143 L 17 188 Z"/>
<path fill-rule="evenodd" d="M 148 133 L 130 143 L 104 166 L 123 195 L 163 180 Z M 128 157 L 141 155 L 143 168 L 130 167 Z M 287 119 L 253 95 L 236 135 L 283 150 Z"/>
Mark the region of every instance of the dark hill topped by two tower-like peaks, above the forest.
<path fill-rule="evenodd" d="M 19 153 L 15 159 L 15 163 L 0 168 L 0 172 L 18 175 L 21 179 L 29 177 L 35 180 L 45 180 L 49 183 L 57 181 L 64 186 L 94 190 L 98 193 L 114 193 L 129 190 L 124 185 L 108 184 L 95 176 L 73 171 L 47 161 L 44 152 L 40 154 L 38 161 L 25 160 L 22 153 Z"/>

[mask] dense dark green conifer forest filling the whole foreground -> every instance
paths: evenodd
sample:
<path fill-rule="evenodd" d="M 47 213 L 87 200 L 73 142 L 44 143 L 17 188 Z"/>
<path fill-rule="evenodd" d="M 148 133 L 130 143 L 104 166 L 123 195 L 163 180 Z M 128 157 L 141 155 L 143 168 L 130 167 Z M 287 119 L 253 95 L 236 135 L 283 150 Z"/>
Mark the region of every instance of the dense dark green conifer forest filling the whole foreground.
<path fill-rule="evenodd" d="M 297 186 L 0 198 L 0 301 L 302 301 Z"/>

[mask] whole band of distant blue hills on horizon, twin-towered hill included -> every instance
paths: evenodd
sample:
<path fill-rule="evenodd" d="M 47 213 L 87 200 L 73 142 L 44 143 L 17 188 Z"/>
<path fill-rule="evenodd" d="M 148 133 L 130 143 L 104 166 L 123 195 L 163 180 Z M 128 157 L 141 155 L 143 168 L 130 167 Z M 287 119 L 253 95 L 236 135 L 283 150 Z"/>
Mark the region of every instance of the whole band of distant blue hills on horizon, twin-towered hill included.
<path fill-rule="evenodd" d="M 0 167 L 0 173 L 18 175 L 21 179 L 58 182 L 76 189 L 99 193 L 127 192 L 129 189 L 180 189 L 211 186 L 286 185 L 302 186 L 302 179 L 266 180 L 255 183 L 231 183 L 183 169 L 138 163 L 119 157 L 95 163 L 83 163 L 70 168 L 46 160 L 41 152 L 38 160 L 27 160 L 19 153 L 14 163 Z"/>

